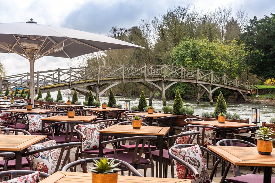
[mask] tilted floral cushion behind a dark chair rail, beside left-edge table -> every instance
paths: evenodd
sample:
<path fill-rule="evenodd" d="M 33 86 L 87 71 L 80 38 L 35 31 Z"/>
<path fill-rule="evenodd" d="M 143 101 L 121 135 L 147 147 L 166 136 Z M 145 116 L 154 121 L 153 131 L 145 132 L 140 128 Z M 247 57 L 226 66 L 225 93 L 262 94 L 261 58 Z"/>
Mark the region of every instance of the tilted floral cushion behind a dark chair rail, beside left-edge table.
<path fill-rule="evenodd" d="M 55 140 L 49 140 L 41 144 L 34 144 L 27 148 L 28 152 L 36 149 L 54 146 L 56 145 Z M 52 149 L 40 153 L 36 153 L 30 156 L 34 170 L 45 172 L 47 174 L 53 174 L 57 165 L 60 152 L 58 149 Z M 62 166 L 63 161 L 61 161 L 60 166 Z"/>

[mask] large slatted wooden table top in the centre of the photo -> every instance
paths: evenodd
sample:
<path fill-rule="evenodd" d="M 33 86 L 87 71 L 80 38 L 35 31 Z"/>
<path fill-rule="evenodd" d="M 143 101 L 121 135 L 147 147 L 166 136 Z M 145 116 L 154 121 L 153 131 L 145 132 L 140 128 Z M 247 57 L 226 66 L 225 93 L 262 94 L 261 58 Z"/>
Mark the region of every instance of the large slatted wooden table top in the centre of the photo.
<path fill-rule="evenodd" d="M 157 135 L 164 136 L 170 127 L 162 126 L 141 126 L 140 129 L 133 129 L 132 125 L 113 125 L 108 128 L 99 130 L 101 133 L 114 133 L 114 134 L 138 134 L 138 135 Z"/>

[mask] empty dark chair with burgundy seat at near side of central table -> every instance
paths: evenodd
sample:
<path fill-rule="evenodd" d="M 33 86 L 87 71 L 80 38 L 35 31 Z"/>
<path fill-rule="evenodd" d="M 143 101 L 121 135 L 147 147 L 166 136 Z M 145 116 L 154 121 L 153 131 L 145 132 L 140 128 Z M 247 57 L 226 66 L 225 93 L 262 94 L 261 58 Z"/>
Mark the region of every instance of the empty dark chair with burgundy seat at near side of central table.
<path fill-rule="evenodd" d="M 103 141 L 101 144 L 112 144 L 114 154 L 108 154 L 103 156 L 108 156 L 108 158 L 115 158 L 122 161 L 125 161 L 132 165 L 136 170 L 143 169 L 144 176 L 146 176 L 147 168 L 151 168 L 151 176 L 154 177 L 154 162 L 152 158 L 150 160 L 142 157 L 142 153 L 144 152 L 144 146 L 147 144 L 150 147 L 150 143 L 152 140 L 156 140 L 157 136 L 133 136 L 133 137 L 123 137 L 117 138 L 113 140 Z M 133 152 L 126 153 L 117 153 L 117 148 L 115 144 L 121 141 L 135 140 L 136 145 Z M 140 147 L 139 144 L 142 144 Z M 150 148 L 148 148 L 149 153 L 151 153 Z M 150 156 L 152 157 L 152 156 Z M 123 171 L 126 171 L 126 168 L 121 167 L 121 175 L 123 175 Z"/>

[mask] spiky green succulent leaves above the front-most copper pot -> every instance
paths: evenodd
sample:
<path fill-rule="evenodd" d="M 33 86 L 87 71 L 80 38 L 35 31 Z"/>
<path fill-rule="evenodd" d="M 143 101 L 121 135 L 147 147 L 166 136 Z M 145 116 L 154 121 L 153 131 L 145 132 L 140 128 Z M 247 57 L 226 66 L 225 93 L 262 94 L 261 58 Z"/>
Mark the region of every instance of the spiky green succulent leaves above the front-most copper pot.
<path fill-rule="evenodd" d="M 107 157 L 100 158 L 98 160 L 93 160 L 94 167 L 90 167 L 88 169 L 91 172 L 94 172 L 96 174 L 108 174 L 108 173 L 115 173 L 121 169 L 115 168 L 119 163 L 115 164 L 115 159 L 108 160 Z"/>

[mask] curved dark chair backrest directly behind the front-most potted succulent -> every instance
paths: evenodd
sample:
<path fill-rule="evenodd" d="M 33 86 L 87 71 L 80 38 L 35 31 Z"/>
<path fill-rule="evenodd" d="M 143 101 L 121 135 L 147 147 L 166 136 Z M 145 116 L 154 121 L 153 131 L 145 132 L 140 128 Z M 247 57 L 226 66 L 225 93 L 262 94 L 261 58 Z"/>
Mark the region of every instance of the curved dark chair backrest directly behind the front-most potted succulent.
<path fill-rule="evenodd" d="M 71 162 L 69 164 L 66 164 L 61 171 L 68 171 L 70 169 L 70 171 L 72 172 L 76 172 L 76 166 L 81 165 L 82 168 L 82 172 L 83 173 L 88 173 L 87 172 L 87 166 L 91 166 L 93 167 L 93 160 L 98 160 L 99 161 L 100 158 L 85 158 L 85 159 L 81 159 L 81 160 L 76 160 L 74 162 Z M 111 158 L 108 158 L 109 160 L 111 160 Z M 90 163 L 90 164 L 89 164 Z M 122 161 L 122 160 L 118 160 L 115 159 L 115 163 L 120 163 L 119 164 L 119 168 L 120 167 L 125 167 L 128 169 L 129 172 L 131 172 L 134 176 L 139 176 L 139 177 L 143 177 L 142 174 L 140 174 L 140 172 L 138 172 L 133 166 L 131 166 L 129 163 Z M 130 176 L 130 174 L 129 174 Z"/>

